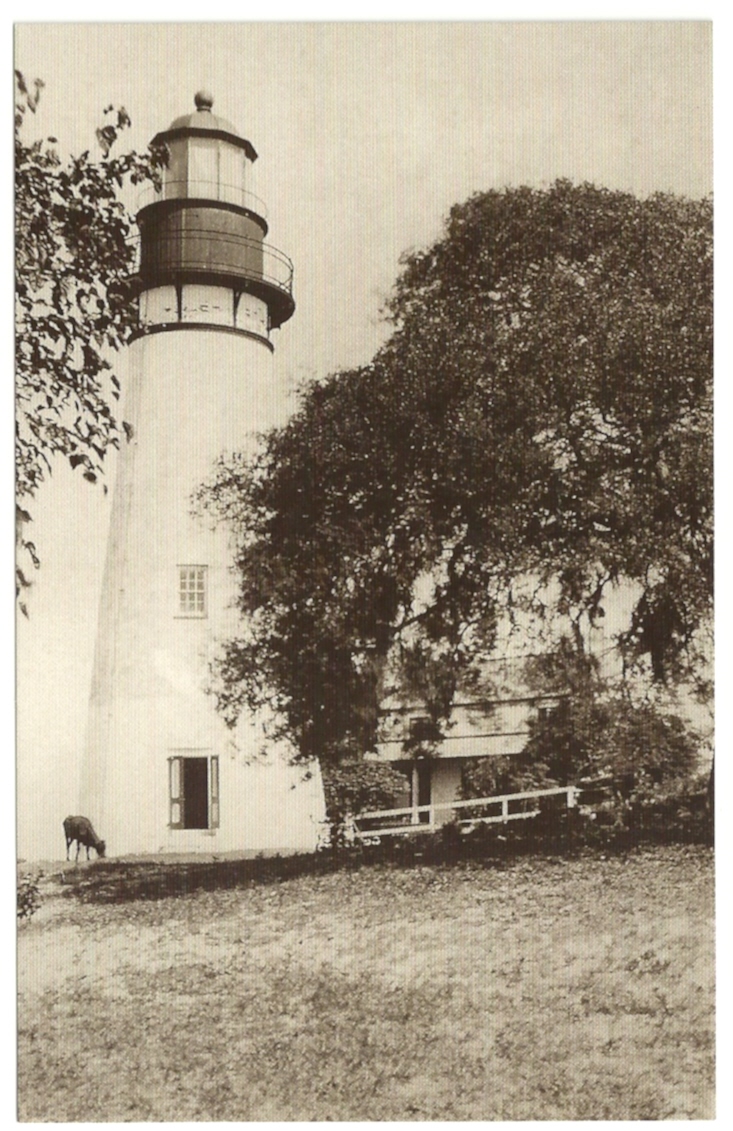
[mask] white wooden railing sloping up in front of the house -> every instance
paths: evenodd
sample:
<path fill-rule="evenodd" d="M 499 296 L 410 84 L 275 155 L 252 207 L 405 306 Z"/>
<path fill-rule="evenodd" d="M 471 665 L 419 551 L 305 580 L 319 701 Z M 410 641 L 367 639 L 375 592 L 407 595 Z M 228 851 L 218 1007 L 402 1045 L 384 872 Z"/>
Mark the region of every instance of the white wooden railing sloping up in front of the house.
<path fill-rule="evenodd" d="M 368 813 L 360 813 L 359 817 L 354 818 L 353 834 L 360 840 L 369 840 L 376 837 L 394 837 L 404 836 L 411 832 L 432 832 L 440 824 L 445 823 L 442 821 L 436 821 L 436 813 L 449 812 L 452 813 L 456 810 L 472 810 L 471 817 L 456 818 L 457 824 L 493 824 L 499 821 L 520 821 L 526 820 L 529 817 L 536 817 L 540 812 L 540 808 L 536 801 L 540 797 L 555 797 L 562 794 L 566 795 L 566 804 L 568 809 L 575 809 L 577 805 L 577 797 L 580 793 L 578 786 L 567 785 L 557 786 L 552 789 L 531 789 L 527 793 L 506 793 L 498 797 L 472 797 L 469 801 L 443 801 L 438 803 L 432 803 L 430 805 L 411 805 L 407 809 L 378 809 Z M 520 808 L 518 811 L 514 810 L 510 812 L 510 805 L 512 803 L 526 803 L 535 802 L 534 805 L 529 808 Z M 486 813 L 485 815 L 476 815 L 476 810 L 492 809 L 499 806 L 499 813 Z M 424 814 L 424 817 L 423 817 Z M 406 818 L 402 823 L 390 823 L 390 818 Z M 371 826 L 371 828 L 364 828 L 364 822 L 372 821 L 387 821 L 386 826 L 381 823 Z"/>

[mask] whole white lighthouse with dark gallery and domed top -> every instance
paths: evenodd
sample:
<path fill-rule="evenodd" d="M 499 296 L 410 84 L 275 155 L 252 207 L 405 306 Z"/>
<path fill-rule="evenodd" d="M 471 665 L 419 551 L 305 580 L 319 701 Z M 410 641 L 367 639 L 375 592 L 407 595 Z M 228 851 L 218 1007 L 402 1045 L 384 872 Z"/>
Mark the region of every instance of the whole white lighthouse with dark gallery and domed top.
<path fill-rule="evenodd" d="M 139 325 L 92 677 L 80 811 L 112 855 L 312 848 L 318 774 L 291 765 L 267 719 L 232 731 L 207 693 L 238 629 L 226 532 L 193 512 L 224 452 L 282 423 L 274 331 L 293 267 L 249 189 L 257 153 L 213 98 L 154 139 L 169 150 L 137 215 Z"/>

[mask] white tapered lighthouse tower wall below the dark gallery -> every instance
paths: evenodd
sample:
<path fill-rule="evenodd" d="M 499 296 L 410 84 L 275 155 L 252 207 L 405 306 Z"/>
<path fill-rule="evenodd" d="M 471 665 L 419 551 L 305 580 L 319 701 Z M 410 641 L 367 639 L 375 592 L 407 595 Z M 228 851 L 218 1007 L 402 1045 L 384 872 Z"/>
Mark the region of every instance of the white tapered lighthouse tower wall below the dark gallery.
<path fill-rule="evenodd" d="M 324 815 L 318 774 L 290 765 L 265 717 L 228 729 L 207 693 L 213 656 L 238 628 L 235 578 L 227 533 L 192 512 L 217 457 L 251 450 L 285 418 L 268 308 L 218 279 L 156 279 L 143 290 L 140 327 L 80 811 L 114 855 L 309 849 Z"/>

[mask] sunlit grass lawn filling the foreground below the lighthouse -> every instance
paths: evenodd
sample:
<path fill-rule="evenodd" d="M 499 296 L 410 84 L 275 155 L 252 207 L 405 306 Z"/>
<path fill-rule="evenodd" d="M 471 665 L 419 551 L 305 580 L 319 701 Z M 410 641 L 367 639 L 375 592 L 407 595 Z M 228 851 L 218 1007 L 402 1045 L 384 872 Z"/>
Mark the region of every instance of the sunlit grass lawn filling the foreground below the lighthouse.
<path fill-rule="evenodd" d="M 19 1117 L 710 1119 L 713 884 L 689 846 L 126 904 L 46 884 Z"/>

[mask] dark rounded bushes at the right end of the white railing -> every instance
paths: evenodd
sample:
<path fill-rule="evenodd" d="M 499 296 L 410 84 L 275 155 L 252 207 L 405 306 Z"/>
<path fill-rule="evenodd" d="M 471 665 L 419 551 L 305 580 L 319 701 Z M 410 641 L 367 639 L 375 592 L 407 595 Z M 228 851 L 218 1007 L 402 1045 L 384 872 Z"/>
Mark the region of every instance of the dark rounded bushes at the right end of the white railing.
<path fill-rule="evenodd" d="M 712 843 L 707 775 L 696 772 L 699 736 L 678 715 L 650 702 L 567 697 L 535 719 L 520 754 L 469 762 L 464 798 L 500 796 L 554 785 L 580 786 L 580 808 L 542 798 L 540 817 L 520 828 L 492 826 L 469 838 L 494 852 L 511 843 L 630 846 L 639 840 Z M 469 815 L 469 811 L 465 811 Z M 476 815 L 480 815 L 476 813 Z"/>

